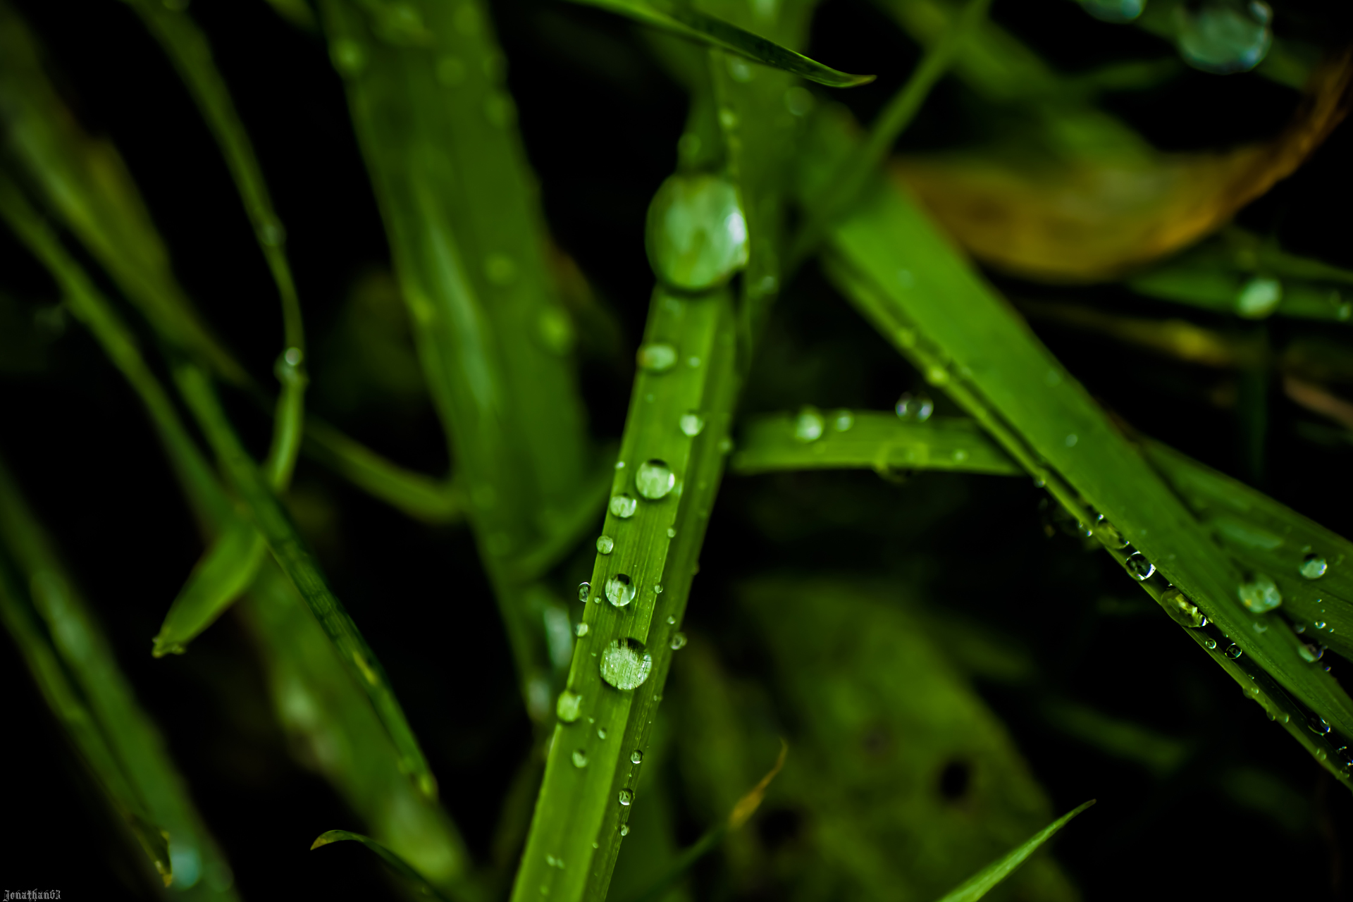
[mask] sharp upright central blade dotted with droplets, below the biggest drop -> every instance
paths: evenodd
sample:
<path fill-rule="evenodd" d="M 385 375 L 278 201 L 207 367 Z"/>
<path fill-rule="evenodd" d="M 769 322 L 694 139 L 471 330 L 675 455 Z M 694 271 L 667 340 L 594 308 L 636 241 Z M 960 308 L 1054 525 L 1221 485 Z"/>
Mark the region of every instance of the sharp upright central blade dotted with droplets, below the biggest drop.
<path fill-rule="evenodd" d="M 629 814 L 629 805 L 617 799 L 621 791 L 633 792 L 640 764 L 630 756 L 636 751 L 641 756 L 648 745 L 671 663 L 671 637 L 685 613 L 718 488 L 736 395 L 728 292 L 682 299 L 658 289 L 644 342 L 671 343 L 678 361 L 666 372 L 640 369 L 635 380 L 612 492 L 632 499 L 636 510 L 620 517 L 617 511 L 626 513 L 626 507 L 617 504 L 602 526 L 614 546 L 598 554 L 593 568 L 583 613 L 587 632 L 574 650 L 560 696 L 564 721 L 555 726 L 514 899 L 540 898 L 541 887 L 552 899 L 606 894 Z M 694 437 L 679 426 L 689 411 L 705 417 Z M 664 461 L 676 480 L 659 500 L 641 498 L 636 490 L 636 471 L 649 460 Z M 635 590 L 633 600 L 621 607 L 606 596 L 607 580 L 618 575 L 628 576 Z M 620 640 L 641 644 L 652 659 L 651 673 L 632 690 L 616 688 L 601 675 L 603 656 Z"/>

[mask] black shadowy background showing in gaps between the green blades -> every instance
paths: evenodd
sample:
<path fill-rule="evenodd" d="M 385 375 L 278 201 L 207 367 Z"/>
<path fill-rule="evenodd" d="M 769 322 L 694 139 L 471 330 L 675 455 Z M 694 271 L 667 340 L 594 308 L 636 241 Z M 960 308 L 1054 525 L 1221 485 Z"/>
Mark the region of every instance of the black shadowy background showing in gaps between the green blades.
<path fill-rule="evenodd" d="M 267 373 L 281 337 L 273 289 L 219 153 L 158 47 L 118 3 L 16 5 L 47 46 L 77 116 L 120 149 L 184 285 L 227 345 L 256 375 Z M 317 349 L 310 403 L 377 450 L 440 472 L 445 452 L 425 402 L 353 406 L 323 389 L 326 368 L 342 365 L 333 354 L 326 358 L 325 337 L 338 327 L 353 281 L 388 266 L 388 249 L 342 87 L 321 39 L 294 30 L 258 1 L 198 0 L 192 14 L 212 39 L 287 223 Z M 492 14 L 553 237 L 612 308 L 624 346 L 633 348 L 652 284 L 644 211 L 675 165 L 685 96 L 617 19 L 530 0 L 495 3 Z M 1134 28 L 1096 23 L 1065 1 L 997 0 L 993 16 L 1065 70 L 1173 53 Z M 1350 32 L 1348 8 L 1335 4 L 1279 5 L 1277 23 L 1280 30 L 1289 23 L 1319 31 L 1326 41 Z M 809 53 L 842 69 L 878 73 L 874 85 L 832 93 L 866 120 L 917 57 L 909 39 L 862 0 L 824 3 Z M 1185 150 L 1272 135 L 1293 103 L 1292 92 L 1253 76 L 1187 72 L 1168 89 L 1120 97 L 1114 108 L 1162 149 Z M 971 133 L 965 104 L 959 85 L 942 82 L 902 146 L 962 142 Z M 1353 200 L 1349 134 L 1348 124 L 1335 130 L 1241 222 L 1277 234 L 1291 250 L 1353 266 L 1344 212 Z M 20 303 L 37 308 L 57 296 L 7 233 L 0 234 L 0 283 Z M 1109 310 L 1235 329 L 1115 288 L 997 284 L 1013 298 L 1092 299 Z M 46 321 L 61 322 L 50 310 Z M 1238 412 L 1210 400 L 1216 384 L 1234 376 L 1065 327 L 1035 327 L 1135 427 L 1249 476 L 1303 514 L 1353 534 L 1348 434 L 1292 406 L 1276 385 L 1268 396 L 1266 462 L 1262 472 L 1246 473 Z M 1272 321 L 1261 329 L 1279 345 L 1303 330 L 1335 327 Z M 239 888 L 250 898 L 388 895 L 373 857 L 349 849 L 306 852 L 321 832 L 352 826 L 353 817 L 288 757 L 252 646 L 234 618 L 223 618 L 183 657 L 157 661 L 142 653 L 200 544 L 138 402 L 101 350 L 77 327 L 54 325 L 43 334 L 39 354 L 11 361 L 0 373 L 0 449 L 100 611 L 122 667 L 235 867 Z M 920 385 L 812 268 L 786 291 L 766 348 L 771 350 L 744 399 L 748 411 L 802 403 L 888 408 L 900 391 Z M 597 352 L 583 361 L 598 438 L 620 435 L 626 360 L 628 352 Z M 939 412 L 957 412 L 943 399 L 938 404 Z M 237 410 L 241 429 L 262 448 L 268 423 L 248 404 Z M 318 506 L 313 522 L 323 529 L 311 538 L 334 587 L 390 671 L 472 852 L 487 859 L 490 825 L 532 733 L 468 533 L 414 525 L 308 461 L 298 471 L 296 494 Z M 1061 534 L 1045 536 L 1040 496 L 1026 480 L 936 475 L 900 485 L 862 473 L 729 479 L 687 625 L 714 638 L 731 667 L 754 669 L 725 603 L 740 577 L 820 567 L 920 579 L 932 598 L 1027 646 L 1062 695 L 1204 744 L 1195 760 L 1206 765 L 1160 783 L 1054 732 L 1028 694 L 982 687 L 1058 810 L 1100 799 L 1058 845 L 1088 899 L 1214 893 L 1323 899 L 1333 898 L 1337 868 L 1348 891 L 1353 799 L 1166 626 L 1145 595 L 1137 599 L 1107 556 L 1086 553 Z M 787 526 L 769 534 L 767 511 Z M 578 567 L 561 567 L 561 586 Z M 1115 610 L 1143 602 L 1142 615 L 1104 614 L 1096 602 L 1105 596 L 1126 602 Z M 415 629 L 403 599 L 423 599 Z M 467 649 L 456 636 L 475 640 Z M 9 653 L 0 668 L 11 699 L 4 721 L 11 761 L 4 888 L 62 888 L 65 898 L 142 894 L 22 663 Z M 1335 660 L 1335 676 L 1346 668 Z M 1299 829 L 1215 792 L 1211 771 L 1239 764 L 1277 775 L 1306 801 Z"/>

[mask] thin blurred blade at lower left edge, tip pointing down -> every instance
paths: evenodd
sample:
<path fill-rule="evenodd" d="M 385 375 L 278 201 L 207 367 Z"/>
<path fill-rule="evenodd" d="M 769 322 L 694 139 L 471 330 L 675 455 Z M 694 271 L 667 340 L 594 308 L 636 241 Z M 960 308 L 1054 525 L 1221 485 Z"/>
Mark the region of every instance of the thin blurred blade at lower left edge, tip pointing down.
<path fill-rule="evenodd" d="M 47 641 L 42 626 L 32 619 L 8 565 L 0 560 L 0 621 L 14 638 L 14 644 L 38 691 L 57 721 L 66 732 L 66 738 L 76 746 L 85 765 L 93 772 L 99 788 L 112 809 L 126 821 L 127 829 L 137 838 L 146 857 L 165 886 L 173 882 L 169 842 L 158 828 L 150 822 L 145 802 L 133 788 L 127 775 L 118 764 L 116 756 L 108 748 L 107 740 L 99 732 L 89 709 L 70 686 L 57 653 Z"/>

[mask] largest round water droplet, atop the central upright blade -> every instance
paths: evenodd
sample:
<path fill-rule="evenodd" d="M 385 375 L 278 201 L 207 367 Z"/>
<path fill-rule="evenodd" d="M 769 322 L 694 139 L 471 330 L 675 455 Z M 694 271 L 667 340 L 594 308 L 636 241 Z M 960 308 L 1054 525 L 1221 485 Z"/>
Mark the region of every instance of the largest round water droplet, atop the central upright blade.
<path fill-rule="evenodd" d="M 737 188 L 712 174 L 668 177 L 648 206 L 644 243 L 653 273 L 668 285 L 708 291 L 724 284 L 747 265 Z"/>

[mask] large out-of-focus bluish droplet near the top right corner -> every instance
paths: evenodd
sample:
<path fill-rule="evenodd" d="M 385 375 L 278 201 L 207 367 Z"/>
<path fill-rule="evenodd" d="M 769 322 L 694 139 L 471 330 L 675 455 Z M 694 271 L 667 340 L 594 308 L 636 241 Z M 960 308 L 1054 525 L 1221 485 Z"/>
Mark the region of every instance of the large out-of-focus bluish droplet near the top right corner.
<path fill-rule="evenodd" d="M 1174 15 L 1180 55 L 1203 72 L 1224 76 L 1253 69 L 1273 42 L 1273 11 L 1260 0 L 1181 3 Z"/>

